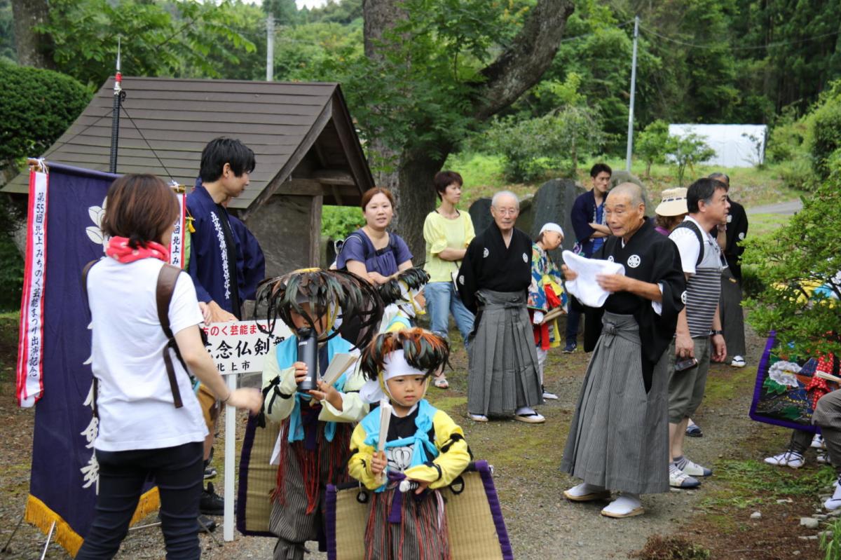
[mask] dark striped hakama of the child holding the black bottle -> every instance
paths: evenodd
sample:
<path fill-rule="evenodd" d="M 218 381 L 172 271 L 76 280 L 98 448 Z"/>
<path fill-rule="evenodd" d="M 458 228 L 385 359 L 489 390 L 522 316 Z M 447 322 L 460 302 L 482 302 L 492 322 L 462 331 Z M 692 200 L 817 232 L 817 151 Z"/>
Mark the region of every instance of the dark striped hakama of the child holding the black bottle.
<path fill-rule="evenodd" d="M 278 536 L 274 560 L 303 560 L 304 542 L 324 542 L 322 498 L 327 484 L 350 481 L 346 465 L 351 456 L 351 425 L 336 424 L 333 441 L 326 441 L 324 426 L 318 422 L 315 441 L 289 443 L 289 421 L 283 421 L 278 488 L 272 495 L 269 517 L 269 531 Z M 312 444 L 315 449 L 308 449 Z"/>

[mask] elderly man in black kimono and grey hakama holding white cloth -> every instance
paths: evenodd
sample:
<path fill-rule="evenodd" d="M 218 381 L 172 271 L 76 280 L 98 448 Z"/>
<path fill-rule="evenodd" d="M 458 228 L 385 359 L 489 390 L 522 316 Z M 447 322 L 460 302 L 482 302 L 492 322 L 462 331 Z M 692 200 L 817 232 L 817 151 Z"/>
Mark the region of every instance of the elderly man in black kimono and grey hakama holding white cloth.
<path fill-rule="evenodd" d="M 584 309 L 584 350 L 595 352 L 584 377 L 561 470 L 584 480 L 564 492 L 584 502 L 621 494 L 602 515 L 643 513 L 639 494 L 669 490 L 669 357 L 685 278 L 674 242 L 645 217 L 639 187 L 622 183 L 608 195 L 611 237 L 595 258 L 619 262 L 625 274 L 597 276 L 610 292 L 600 309 Z M 577 277 L 563 267 L 567 280 Z M 578 304 L 578 302 L 573 302 Z"/>

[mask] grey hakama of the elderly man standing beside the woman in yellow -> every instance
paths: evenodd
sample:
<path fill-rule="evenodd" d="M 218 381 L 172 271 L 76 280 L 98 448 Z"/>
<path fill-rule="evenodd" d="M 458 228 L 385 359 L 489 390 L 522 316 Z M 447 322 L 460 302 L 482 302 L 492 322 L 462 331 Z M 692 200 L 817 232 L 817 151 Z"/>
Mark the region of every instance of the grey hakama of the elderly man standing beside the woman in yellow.
<path fill-rule="evenodd" d="M 510 416 L 543 402 L 526 290 L 480 289 L 476 334 L 468 348 L 468 412 Z"/>

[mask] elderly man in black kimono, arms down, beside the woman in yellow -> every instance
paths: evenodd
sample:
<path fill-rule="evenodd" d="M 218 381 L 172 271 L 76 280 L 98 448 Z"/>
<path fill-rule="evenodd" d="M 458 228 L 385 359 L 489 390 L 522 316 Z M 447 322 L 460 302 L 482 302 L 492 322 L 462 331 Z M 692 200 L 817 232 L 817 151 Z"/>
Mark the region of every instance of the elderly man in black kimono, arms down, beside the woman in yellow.
<path fill-rule="evenodd" d="M 532 283 L 532 240 L 514 227 L 520 201 L 509 191 L 490 204 L 494 223 L 470 242 L 458 270 L 458 293 L 476 314 L 468 347 L 468 414 L 540 424 L 543 402 L 526 299 Z"/>

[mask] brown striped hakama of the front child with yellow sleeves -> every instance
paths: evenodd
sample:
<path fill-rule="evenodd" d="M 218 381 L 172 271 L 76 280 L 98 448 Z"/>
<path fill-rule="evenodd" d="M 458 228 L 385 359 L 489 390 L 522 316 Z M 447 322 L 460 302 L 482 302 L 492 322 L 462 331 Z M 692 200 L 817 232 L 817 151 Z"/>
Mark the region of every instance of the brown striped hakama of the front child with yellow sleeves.
<path fill-rule="evenodd" d="M 447 514 L 441 493 L 399 496 L 399 520 L 392 511 L 397 483 L 373 493 L 365 528 L 365 560 L 450 560 Z M 389 515 L 392 517 L 389 520 Z M 384 527 L 388 527 L 384 529 Z"/>

